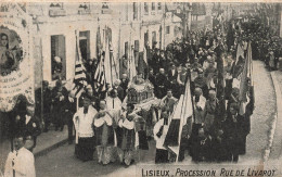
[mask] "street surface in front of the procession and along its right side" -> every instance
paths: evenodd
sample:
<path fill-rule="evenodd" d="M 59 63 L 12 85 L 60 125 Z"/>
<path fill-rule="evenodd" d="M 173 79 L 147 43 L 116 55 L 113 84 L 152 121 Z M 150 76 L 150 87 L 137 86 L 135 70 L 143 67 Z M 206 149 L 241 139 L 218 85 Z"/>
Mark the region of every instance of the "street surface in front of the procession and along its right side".
<path fill-rule="evenodd" d="M 254 61 L 255 111 L 252 116 L 251 134 L 247 136 L 246 154 L 240 156 L 239 164 L 258 164 L 269 141 L 269 129 L 275 113 L 275 94 L 269 72 L 260 61 Z M 65 144 L 36 159 L 36 170 L 39 177 L 88 177 L 118 176 L 117 174 L 133 173 L 134 165 L 125 168 L 118 162 L 99 165 L 94 161 L 81 162 L 74 156 L 75 146 Z M 150 151 L 141 163 L 154 164 L 155 142 L 150 141 Z M 182 164 L 191 164 L 188 156 Z M 130 173 L 129 173 L 130 172 Z M 132 175 L 132 174 L 131 174 Z"/>

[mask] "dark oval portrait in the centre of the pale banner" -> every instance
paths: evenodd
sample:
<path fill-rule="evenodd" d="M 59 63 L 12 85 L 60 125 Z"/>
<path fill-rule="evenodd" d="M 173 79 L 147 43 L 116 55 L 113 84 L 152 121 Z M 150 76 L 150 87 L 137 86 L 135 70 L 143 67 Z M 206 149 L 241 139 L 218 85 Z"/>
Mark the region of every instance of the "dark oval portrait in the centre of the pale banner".
<path fill-rule="evenodd" d="M 12 29 L 0 26 L 0 75 L 7 76 L 18 69 L 24 59 L 22 39 Z"/>

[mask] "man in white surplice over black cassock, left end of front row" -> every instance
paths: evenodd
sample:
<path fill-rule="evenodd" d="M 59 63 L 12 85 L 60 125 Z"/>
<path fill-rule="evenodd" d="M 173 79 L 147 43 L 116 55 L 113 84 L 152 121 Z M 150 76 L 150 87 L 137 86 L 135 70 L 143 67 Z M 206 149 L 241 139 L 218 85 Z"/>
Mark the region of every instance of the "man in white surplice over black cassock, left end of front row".
<path fill-rule="evenodd" d="M 92 123 L 97 111 L 90 104 L 90 99 L 87 97 L 84 98 L 84 106 L 78 109 L 73 118 L 77 134 L 75 153 L 76 156 L 84 162 L 93 160 L 94 152 L 94 131 L 92 129 Z"/>

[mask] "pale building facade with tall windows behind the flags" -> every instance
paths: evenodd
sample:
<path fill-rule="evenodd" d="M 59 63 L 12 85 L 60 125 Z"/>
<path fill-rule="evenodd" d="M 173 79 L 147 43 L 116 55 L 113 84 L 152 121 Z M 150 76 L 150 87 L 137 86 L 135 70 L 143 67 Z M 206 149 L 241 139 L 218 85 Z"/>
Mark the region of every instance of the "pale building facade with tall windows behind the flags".
<path fill-rule="evenodd" d="M 138 63 L 138 53 L 143 51 L 145 45 L 151 49 L 165 49 L 175 37 L 182 36 L 181 18 L 174 15 L 174 12 L 167 12 L 166 3 L 163 2 L 35 2 L 29 3 L 27 9 L 37 29 L 34 34 L 36 66 L 41 66 L 35 73 L 36 88 L 41 80 L 54 85 L 54 56 L 62 60 L 62 78 L 73 79 L 77 35 L 85 60 L 97 58 L 98 30 L 102 43 L 107 36 L 115 60 L 112 67 L 116 71 L 119 71 L 123 56 L 133 58 Z"/>

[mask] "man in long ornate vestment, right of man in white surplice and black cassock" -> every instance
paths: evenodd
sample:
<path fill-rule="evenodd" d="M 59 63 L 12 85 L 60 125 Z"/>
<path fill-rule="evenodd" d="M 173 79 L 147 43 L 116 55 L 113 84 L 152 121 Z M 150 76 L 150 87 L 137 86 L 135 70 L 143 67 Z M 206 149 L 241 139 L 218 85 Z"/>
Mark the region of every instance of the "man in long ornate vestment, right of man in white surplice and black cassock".
<path fill-rule="evenodd" d="M 106 165 L 115 161 L 114 118 L 106 109 L 105 100 L 100 101 L 100 111 L 94 116 L 94 130 L 97 138 L 98 163 Z"/>

